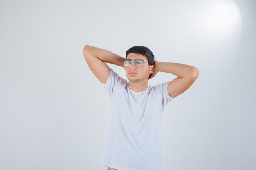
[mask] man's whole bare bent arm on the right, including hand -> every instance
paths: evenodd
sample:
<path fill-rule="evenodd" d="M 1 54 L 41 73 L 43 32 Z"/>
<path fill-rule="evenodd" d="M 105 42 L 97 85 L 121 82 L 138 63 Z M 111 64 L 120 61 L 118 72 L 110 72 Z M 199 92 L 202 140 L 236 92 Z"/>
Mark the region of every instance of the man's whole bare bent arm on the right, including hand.
<path fill-rule="evenodd" d="M 154 71 L 149 79 L 153 78 L 159 71 L 178 76 L 168 84 L 167 90 L 170 97 L 176 97 L 186 91 L 199 75 L 198 68 L 194 66 L 171 62 L 158 62 L 155 60 Z"/>

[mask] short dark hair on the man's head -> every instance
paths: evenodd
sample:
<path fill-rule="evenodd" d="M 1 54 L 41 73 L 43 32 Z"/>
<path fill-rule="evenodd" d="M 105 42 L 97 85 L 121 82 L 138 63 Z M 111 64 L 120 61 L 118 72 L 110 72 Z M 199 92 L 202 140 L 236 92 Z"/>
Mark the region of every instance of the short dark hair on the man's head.
<path fill-rule="evenodd" d="M 153 65 L 154 64 L 154 60 L 155 60 L 155 56 L 152 53 L 152 51 L 150 51 L 150 49 L 146 46 L 133 46 L 130 49 L 128 49 L 126 51 L 126 58 L 127 55 L 130 53 L 136 53 L 136 54 L 141 54 L 143 56 L 145 56 L 148 60 L 148 65 Z"/>

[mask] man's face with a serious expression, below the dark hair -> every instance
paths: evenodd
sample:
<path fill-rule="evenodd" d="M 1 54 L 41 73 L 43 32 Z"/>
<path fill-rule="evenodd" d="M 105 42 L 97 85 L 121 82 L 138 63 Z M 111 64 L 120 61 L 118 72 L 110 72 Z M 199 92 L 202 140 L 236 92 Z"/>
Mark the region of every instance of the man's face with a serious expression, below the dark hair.
<path fill-rule="evenodd" d="M 127 55 L 126 60 L 135 61 L 141 60 L 148 62 L 147 58 L 141 54 L 130 53 Z M 125 66 L 126 77 L 130 82 L 139 83 L 148 81 L 148 77 L 154 71 L 154 65 L 149 66 L 148 63 L 142 63 L 141 66 L 136 66 L 134 62 L 130 66 Z M 132 74 L 134 72 L 136 74 Z"/>

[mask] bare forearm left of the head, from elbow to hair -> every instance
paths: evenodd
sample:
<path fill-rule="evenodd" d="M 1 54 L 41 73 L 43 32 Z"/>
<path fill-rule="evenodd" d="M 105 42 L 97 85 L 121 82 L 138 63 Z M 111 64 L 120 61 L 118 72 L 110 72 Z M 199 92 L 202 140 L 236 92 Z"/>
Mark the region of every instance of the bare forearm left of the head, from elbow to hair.
<path fill-rule="evenodd" d="M 95 57 L 99 58 L 99 60 L 111 64 L 115 64 L 117 66 L 124 67 L 124 61 L 126 58 L 121 57 L 111 51 L 101 49 L 95 46 L 86 45 L 83 49 L 84 53 L 89 53 L 89 55 L 94 55 Z"/>

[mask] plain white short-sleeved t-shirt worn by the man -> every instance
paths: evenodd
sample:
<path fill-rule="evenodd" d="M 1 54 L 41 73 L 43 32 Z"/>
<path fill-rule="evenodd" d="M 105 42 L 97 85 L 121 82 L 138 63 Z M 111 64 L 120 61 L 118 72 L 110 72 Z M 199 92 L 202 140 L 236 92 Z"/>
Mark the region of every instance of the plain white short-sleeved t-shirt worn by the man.
<path fill-rule="evenodd" d="M 100 165 L 118 170 L 161 170 L 161 118 L 173 97 L 169 82 L 148 85 L 145 91 L 130 89 L 130 82 L 112 68 L 101 83 L 110 99 L 109 132 Z"/>

